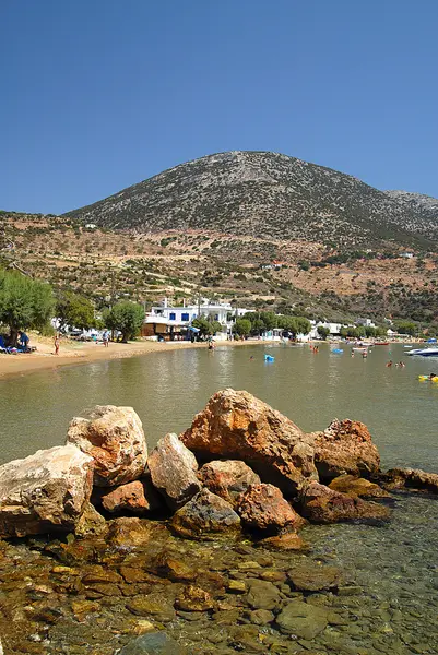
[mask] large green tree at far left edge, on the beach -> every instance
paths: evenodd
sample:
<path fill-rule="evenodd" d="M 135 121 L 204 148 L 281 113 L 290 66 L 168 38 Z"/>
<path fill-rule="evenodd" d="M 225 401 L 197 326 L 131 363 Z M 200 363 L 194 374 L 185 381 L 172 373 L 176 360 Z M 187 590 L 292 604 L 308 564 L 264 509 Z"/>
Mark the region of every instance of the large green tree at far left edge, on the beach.
<path fill-rule="evenodd" d="M 0 271 L 0 322 L 9 326 L 10 342 L 17 342 L 19 330 L 43 330 L 55 306 L 51 286 L 13 271 Z"/>

